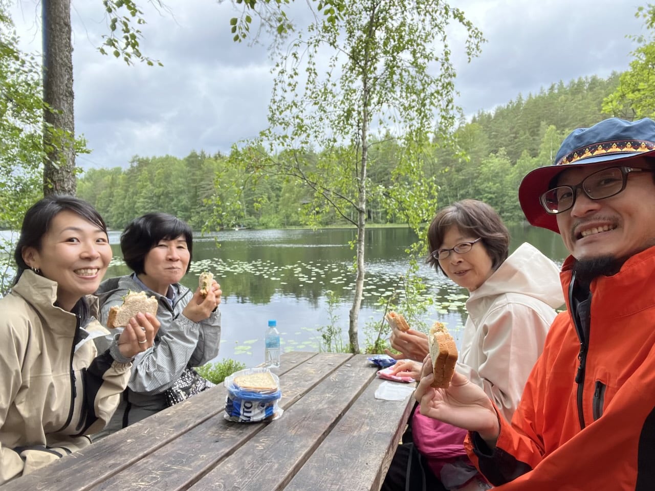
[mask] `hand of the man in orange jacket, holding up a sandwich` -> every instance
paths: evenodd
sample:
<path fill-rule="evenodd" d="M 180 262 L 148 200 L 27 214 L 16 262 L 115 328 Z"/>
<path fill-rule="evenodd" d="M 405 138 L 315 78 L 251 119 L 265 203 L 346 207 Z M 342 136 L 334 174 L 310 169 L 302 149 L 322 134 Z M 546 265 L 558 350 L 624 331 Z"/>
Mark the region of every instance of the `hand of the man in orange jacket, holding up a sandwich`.
<path fill-rule="evenodd" d="M 428 355 L 423 363 L 421 382 L 414 393 L 421 405 L 421 414 L 468 431 L 477 431 L 489 448 L 495 448 L 500 423 L 485 391 L 457 372 L 447 389 L 435 389 L 433 383 L 432 358 Z"/>

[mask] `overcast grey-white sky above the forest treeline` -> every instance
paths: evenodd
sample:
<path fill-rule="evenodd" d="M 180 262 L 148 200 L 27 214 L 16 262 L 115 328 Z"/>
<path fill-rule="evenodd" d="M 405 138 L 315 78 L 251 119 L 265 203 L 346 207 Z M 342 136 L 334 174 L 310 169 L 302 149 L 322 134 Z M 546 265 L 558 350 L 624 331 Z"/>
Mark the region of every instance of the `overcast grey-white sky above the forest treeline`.
<path fill-rule="evenodd" d="M 553 82 L 625 70 L 635 48 L 626 35 L 643 31 L 634 13 L 645 4 L 635 1 L 451 0 L 487 39 L 479 58 L 456 62 L 459 105 L 472 115 Z M 265 128 L 271 60 L 263 46 L 232 41 L 230 1 L 166 0 L 170 12 L 138 3 L 147 20 L 141 51 L 164 67 L 102 56 L 102 1 L 72 0 L 75 130 L 92 149 L 79 166 L 227 153 Z M 11 13 L 24 50 L 39 52 L 39 0 L 17 0 Z"/>

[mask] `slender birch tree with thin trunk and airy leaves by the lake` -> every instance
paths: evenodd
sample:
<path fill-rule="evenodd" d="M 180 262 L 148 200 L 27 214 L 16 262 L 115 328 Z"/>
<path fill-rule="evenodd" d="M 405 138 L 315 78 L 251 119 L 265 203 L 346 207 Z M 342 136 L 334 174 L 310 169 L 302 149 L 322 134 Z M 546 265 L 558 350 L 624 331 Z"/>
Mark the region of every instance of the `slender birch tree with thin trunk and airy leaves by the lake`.
<path fill-rule="evenodd" d="M 368 196 L 392 214 L 402 211 L 415 229 L 428 220 L 424 215 L 432 215 L 438 186 L 434 177 L 426 177 L 422 156 L 433 139 L 451 137 L 459 113 L 447 27 L 455 22 L 466 29 L 469 60 L 479 53 L 482 34 L 462 10 L 440 0 L 321 0 L 315 9 L 309 2 L 313 20 L 303 31 L 291 29 L 282 10 L 286 3 L 257 5 L 271 7 L 264 20 L 280 35 L 272 43 L 278 60 L 271 70 L 269 128 L 233 162 L 251 183 L 269 175 L 297 179 L 309 197 L 299 208 L 307 225 L 318 228 L 336 213 L 357 228 L 348 325 L 350 348 L 357 353 Z M 250 16 L 245 22 L 250 24 Z M 236 18 L 232 26 L 236 40 L 247 37 L 248 29 Z M 379 166 L 369 142 L 383 134 L 405 149 L 386 189 L 367 181 L 368 167 Z M 242 186 L 233 183 L 235 189 Z"/>

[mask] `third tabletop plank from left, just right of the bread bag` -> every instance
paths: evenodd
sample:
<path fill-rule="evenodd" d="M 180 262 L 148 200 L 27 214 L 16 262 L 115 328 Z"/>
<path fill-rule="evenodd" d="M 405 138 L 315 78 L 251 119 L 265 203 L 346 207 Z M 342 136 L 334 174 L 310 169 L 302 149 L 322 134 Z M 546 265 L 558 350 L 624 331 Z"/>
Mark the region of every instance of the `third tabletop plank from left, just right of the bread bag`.
<path fill-rule="evenodd" d="M 345 363 L 189 490 L 283 489 L 374 377 L 364 363 Z"/>

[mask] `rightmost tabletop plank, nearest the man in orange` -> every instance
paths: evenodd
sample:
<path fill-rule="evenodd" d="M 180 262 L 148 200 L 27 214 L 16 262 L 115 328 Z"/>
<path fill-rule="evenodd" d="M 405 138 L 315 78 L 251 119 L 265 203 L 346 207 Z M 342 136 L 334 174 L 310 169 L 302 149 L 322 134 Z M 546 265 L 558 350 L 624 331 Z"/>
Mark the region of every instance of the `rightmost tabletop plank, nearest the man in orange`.
<path fill-rule="evenodd" d="M 382 382 L 368 386 L 285 491 L 379 491 L 414 402 L 375 399 Z"/>

